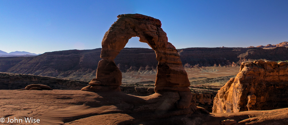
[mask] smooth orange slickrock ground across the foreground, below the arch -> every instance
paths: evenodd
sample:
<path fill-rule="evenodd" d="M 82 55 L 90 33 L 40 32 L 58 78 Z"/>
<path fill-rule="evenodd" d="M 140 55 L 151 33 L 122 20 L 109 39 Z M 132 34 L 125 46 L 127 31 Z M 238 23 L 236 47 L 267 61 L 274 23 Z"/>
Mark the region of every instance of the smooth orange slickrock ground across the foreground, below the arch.
<path fill-rule="evenodd" d="M 122 92 L 87 92 L 80 90 L 0 90 L 0 117 L 39 119 L 37 124 L 93 125 L 220 125 L 236 120 L 237 125 L 288 124 L 288 108 L 271 111 L 202 114 L 193 109 L 170 109 L 175 94 L 133 96 Z M 179 97 L 178 97 L 179 98 Z M 176 101 L 176 100 L 174 100 Z M 12 123 L 10 123 L 12 124 Z M 14 123 L 14 124 L 31 124 Z"/>

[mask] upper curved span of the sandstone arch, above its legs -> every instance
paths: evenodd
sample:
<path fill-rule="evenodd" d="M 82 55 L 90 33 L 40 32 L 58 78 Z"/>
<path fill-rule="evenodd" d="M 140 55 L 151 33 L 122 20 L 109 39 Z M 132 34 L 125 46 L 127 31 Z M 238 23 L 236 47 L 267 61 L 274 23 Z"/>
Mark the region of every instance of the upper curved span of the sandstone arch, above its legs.
<path fill-rule="evenodd" d="M 158 47 L 166 48 L 163 43 L 167 43 L 168 38 L 161 28 L 160 20 L 142 14 L 122 14 L 117 17 L 117 21 L 103 37 L 101 58 L 116 58 L 128 40 L 135 36 L 154 50 Z M 174 46 L 173 48 L 175 49 Z"/>

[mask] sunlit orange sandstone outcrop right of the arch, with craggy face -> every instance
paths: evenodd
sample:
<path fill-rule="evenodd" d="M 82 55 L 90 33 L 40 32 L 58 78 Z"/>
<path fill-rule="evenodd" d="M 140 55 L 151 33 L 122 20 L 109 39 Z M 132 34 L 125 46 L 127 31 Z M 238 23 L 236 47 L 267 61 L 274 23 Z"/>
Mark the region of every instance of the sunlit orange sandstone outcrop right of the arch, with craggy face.
<path fill-rule="evenodd" d="M 247 61 L 217 93 L 213 112 L 229 113 L 288 107 L 288 62 Z"/>

